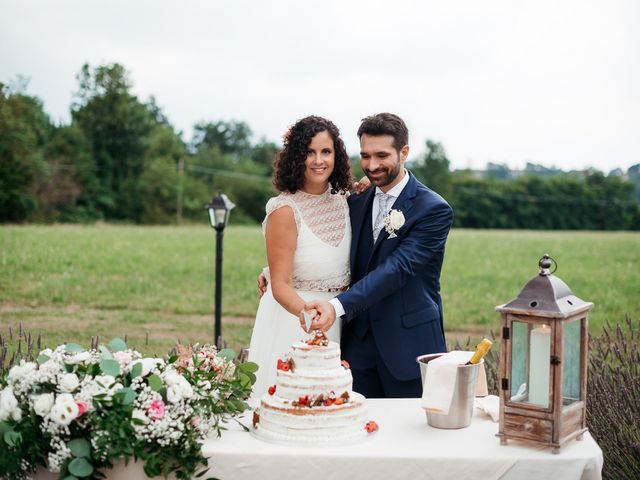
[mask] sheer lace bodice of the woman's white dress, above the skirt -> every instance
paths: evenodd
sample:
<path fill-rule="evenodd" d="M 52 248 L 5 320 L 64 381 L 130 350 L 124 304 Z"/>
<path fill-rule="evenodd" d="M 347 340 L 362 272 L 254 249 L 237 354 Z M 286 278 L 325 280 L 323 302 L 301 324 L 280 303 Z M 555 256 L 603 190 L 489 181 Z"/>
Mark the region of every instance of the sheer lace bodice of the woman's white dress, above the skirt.
<path fill-rule="evenodd" d="M 297 227 L 297 245 L 293 259 L 293 286 L 304 291 L 339 291 L 349 285 L 349 249 L 351 225 L 346 195 L 321 195 L 298 190 L 284 192 L 269 199 L 269 215 L 288 206 L 293 210 Z"/>

